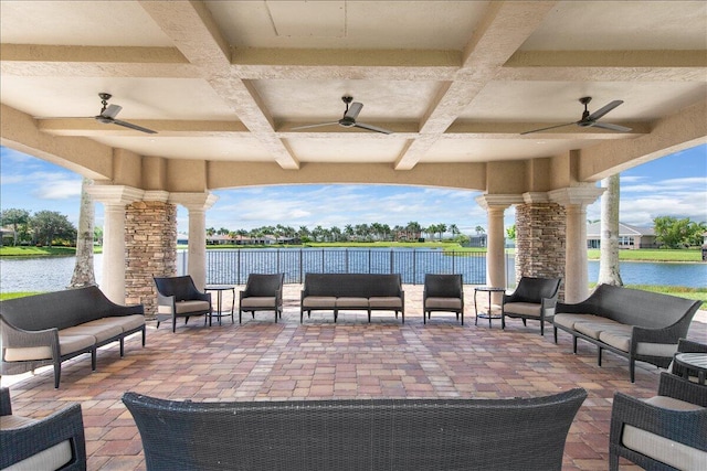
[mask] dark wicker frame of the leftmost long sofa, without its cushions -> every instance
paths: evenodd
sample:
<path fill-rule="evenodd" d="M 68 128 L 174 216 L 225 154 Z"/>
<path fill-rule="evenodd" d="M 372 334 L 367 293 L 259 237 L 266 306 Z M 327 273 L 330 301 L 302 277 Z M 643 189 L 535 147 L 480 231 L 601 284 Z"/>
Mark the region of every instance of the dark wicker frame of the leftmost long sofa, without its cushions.
<path fill-rule="evenodd" d="M 125 338 L 143 332 L 145 346 L 145 324 L 125 331 L 94 345 L 61 355 L 59 331 L 103 318 L 144 314 L 141 304 L 120 306 L 112 302 L 96 286 L 28 296 L 0 301 L 0 335 L 2 361 L 0 374 L 19 374 L 34 371 L 40 366 L 54 366 L 54 387 L 61 381 L 61 364 L 84 353 L 91 353 L 91 367 L 96 370 L 96 349 L 112 342 L 119 342 L 120 356 L 125 353 Z M 6 347 L 49 346 L 52 358 L 15 361 L 4 360 Z"/>

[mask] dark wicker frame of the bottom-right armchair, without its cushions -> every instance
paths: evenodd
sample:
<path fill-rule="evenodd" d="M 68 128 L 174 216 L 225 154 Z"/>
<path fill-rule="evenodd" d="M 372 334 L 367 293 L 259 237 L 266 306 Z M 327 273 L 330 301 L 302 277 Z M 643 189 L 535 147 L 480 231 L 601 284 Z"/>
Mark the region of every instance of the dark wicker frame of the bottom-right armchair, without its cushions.
<path fill-rule="evenodd" d="M 707 386 L 684 381 L 669 373 L 661 373 L 658 396 L 707 407 Z M 612 471 L 619 469 L 619 457 L 626 458 L 646 470 L 675 470 L 624 447 L 622 436 L 625 425 L 707 452 L 707 409 L 671 410 L 655 407 L 623 393 L 615 393 L 609 435 L 609 468 Z"/>

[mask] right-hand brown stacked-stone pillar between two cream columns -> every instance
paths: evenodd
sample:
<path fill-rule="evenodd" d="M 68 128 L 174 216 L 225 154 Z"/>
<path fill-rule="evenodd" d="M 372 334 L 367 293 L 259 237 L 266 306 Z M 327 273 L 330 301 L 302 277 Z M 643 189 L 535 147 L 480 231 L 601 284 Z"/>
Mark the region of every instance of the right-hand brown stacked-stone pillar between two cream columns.
<path fill-rule="evenodd" d="M 516 282 L 564 278 L 564 208 L 546 193 L 524 194 L 524 204 L 516 206 Z"/>

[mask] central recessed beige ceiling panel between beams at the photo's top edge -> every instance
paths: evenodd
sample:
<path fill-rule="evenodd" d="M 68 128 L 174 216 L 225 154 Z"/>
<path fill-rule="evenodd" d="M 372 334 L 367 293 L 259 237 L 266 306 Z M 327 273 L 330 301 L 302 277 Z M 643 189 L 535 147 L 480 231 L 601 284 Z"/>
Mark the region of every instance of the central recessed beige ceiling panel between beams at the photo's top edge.
<path fill-rule="evenodd" d="M 341 3 L 344 34 L 338 32 Z M 486 1 L 208 1 L 207 4 L 222 33 L 236 47 L 456 51 L 466 45 L 488 7 Z M 324 17 L 313 14 L 312 9 L 324 9 Z M 330 19 L 330 24 L 324 19 Z"/>

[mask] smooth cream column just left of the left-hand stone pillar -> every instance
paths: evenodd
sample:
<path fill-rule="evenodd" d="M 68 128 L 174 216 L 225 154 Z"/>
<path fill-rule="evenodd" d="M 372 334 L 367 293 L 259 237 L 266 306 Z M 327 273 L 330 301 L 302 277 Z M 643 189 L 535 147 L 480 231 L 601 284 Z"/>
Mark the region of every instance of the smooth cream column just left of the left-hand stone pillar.
<path fill-rule="evenodd" d="M 143 196 L 143 191 L 119 185 L 92 185 L 86 191 L 104 205 L 103 268 L 101 290 L 125 304 L 125 206 Z"/>

